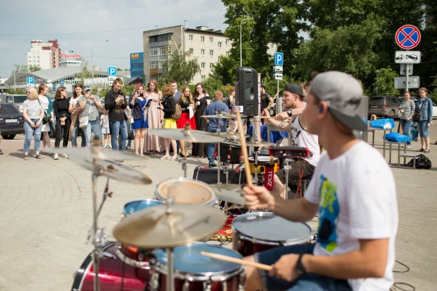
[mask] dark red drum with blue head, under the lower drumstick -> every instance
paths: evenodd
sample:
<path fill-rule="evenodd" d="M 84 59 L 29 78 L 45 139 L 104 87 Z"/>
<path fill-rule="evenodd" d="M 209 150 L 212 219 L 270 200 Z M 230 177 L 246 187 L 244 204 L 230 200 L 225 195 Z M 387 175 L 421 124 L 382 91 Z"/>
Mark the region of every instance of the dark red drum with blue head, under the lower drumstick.
<path fill-rule="evenodd" d="M 232 249 L 195 242 L 174 249 L 175 290 L 243 290 L 245 284 L 244 268 L 237 263 L 211 259 L 200 254 L 206 251 L 237 259 L 243 256 Z M 163 249 L 153 251 L 156 268 L 151 274 L 153 290 L 166 290 L 167 254 Z"/>

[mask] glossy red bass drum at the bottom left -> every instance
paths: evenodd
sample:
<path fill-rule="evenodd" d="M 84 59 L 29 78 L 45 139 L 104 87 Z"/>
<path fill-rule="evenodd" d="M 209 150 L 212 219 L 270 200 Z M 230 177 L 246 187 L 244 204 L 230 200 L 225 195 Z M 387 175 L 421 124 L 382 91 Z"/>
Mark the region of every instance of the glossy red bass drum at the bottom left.
<path fill-rule="evenodd" d="M 72 291 L 94 290 L 93 257 L 89 254 L 81 268 L 74 275 Z M 103 257 L 100 259 L 99 279 L 102 291 L 143 291 L 150 277 L 149 271 L 135 268 L 124 263 L 117 256 L 115 242 L 109 242 L 103 247 Z"/>

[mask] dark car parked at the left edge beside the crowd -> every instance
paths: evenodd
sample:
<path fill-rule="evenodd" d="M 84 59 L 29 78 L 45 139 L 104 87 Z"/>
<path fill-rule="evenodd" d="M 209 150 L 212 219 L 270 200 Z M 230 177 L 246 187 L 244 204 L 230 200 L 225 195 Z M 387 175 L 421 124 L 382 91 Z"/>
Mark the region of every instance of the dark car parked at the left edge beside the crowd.
<path fill-rule="evenodd" d="M 0 103 L 0 131 L 4 139 L 24 133 L 23 114 L 12 104 Z"/>

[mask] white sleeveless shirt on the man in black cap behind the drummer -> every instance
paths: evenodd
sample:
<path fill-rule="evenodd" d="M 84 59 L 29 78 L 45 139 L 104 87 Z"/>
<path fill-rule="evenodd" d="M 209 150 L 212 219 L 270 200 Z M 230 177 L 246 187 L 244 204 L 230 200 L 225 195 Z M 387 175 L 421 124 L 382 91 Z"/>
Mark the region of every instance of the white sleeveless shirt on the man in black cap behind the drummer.
<path fill-rule="evenodd" d="M 313 153 L 313 156 L 305 158 L 305 160 L 314 167 L 317 167 L 317 162 L 320 160 L 319 137 L 305 131 L 301 126 L 299 117 L 296 117 L 293 120 L 293 124 L 291 124 L 291 146 L 308 148 Z"/>

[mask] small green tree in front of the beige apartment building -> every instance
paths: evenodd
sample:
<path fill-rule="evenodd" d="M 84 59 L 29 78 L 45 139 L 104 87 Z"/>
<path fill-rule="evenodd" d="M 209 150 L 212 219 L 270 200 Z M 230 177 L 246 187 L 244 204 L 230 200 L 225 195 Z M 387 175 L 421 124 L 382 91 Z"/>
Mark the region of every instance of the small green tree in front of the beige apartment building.
<path fill-rule="evenodd" d="M 199 61 L 197 58 L 188 59 L 190 52 L 182 50 L 182 44 L 176 45 L 176 49 L 168 54 L 169 61 L 163 62 L 163 69 L 165 73 L 159 79 L 159 84 L 170 83 L 170 81 L 177 81 L 181 86 L 188 85 L 197 73 L 200 73 Z"/>

